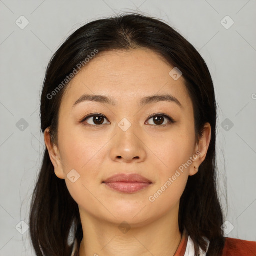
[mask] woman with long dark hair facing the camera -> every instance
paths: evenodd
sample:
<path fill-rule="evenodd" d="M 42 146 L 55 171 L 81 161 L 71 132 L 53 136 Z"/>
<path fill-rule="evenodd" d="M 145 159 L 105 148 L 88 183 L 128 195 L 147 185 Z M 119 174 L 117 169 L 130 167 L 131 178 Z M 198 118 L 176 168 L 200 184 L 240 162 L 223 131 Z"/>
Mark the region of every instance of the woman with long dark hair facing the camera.
<path fill-rule="evenodd" d="M 77 29 L 40 111 L 36 255 L 254 255 L 256 242 L 223 236 L 212 79 L 170 26 L 122 14 Z"/>

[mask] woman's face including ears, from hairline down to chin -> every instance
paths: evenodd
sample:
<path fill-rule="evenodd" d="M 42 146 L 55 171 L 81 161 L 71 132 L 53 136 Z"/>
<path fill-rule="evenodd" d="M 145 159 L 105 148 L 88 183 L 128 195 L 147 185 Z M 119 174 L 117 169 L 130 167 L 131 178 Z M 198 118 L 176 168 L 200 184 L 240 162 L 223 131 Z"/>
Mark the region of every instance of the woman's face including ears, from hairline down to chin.
<path fill-rule="evenodd" d="M 99 52 L 67 85 L 58 147 L 50 147 L 47 132 L 45 143 L 81 217 L 141 224 L 177 213 L 188 176 L 206 156 L 210 127 L 196 144 L 192 101 L 172 69 L 149 49 Z M 85 94 L 114 105 L 85 100 Z M 165 96 L 150 100 L 156 95 Z M 134 184 L 112 183 L 115 190 L 103 182 L 118 173 L 140 174 L 150 183 L 132 192 L 125 189 Z"/>

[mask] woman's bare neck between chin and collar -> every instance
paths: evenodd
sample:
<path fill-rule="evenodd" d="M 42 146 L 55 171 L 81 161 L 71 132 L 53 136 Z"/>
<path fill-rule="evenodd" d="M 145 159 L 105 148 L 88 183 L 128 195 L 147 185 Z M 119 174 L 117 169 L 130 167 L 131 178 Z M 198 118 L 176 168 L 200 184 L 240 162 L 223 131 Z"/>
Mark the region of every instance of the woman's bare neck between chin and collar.
<path fill-rule="evenodd" d="M 120 228 L 122 221 L 105 221 L 80 210 L 83 239 L 79 256 L 174 255 L 181 240 L 178 206 L 154 221 L 139 224 L 130 221 L 126 229 L 125 224 Z"/>

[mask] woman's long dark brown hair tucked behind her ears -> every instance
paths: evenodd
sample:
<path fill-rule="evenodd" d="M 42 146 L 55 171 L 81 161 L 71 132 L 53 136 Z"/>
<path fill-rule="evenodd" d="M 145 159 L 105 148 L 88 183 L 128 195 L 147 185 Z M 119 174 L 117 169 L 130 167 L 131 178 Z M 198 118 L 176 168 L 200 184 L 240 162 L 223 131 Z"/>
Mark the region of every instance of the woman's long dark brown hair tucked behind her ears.
<path fill-rule="evenodd" d="M 203 58 L 172 27 L 156 18 L 124 13 L 92 21 L 73 32 L 47 66 L 41 93 L 41 131 L 50 127 L 52 141 L 57 144 L 59 106 L 68 83 L 53 97 L 48 95 L 87 55 L 95 49 L 104 52 L 141 47 L 153 50 L 182 71 L 193 103 L 196 138 L 201 136 L 206 122 L 211 125 L 206 158 L 198 173 L 188 177 L 180 198 L 178 223 L 181 233 L 184 228 L 188 231 L 195 244 L 196 255 L 199 255 L 198 246 L 206 251 L 203 237 L 210 241 L 207 255 L 221 255 L 224 246 L 220 228 L 223 213 L 216 191 L 216 103 L 213 82 Z M 72 230 L 78 244 L 82 240 L 78 205 L 69 194 L 65 180 L 55 175 L 47 149 L 34 188 L 29 220 L 30 236 L 38 256 L 69 256 L 72 244 L 69 244 L 68 237 Z"/>

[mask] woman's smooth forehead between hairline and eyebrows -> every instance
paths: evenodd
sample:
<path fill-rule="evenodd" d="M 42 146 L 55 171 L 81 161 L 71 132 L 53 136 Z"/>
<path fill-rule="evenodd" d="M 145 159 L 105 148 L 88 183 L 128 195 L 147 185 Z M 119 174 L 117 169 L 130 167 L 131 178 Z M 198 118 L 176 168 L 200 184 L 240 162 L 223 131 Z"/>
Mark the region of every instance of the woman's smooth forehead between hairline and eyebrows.
<path fill-rule="evenodd" d="M 173 68 L 150 49 L 99 52 L 67 85 L 61 105 L 71 107 L 83 94 L 101 94 L 129 104 L 143 96 L 168 93 L 191 107 L 184 78 L 174 80 L 169 74 Z"/>

